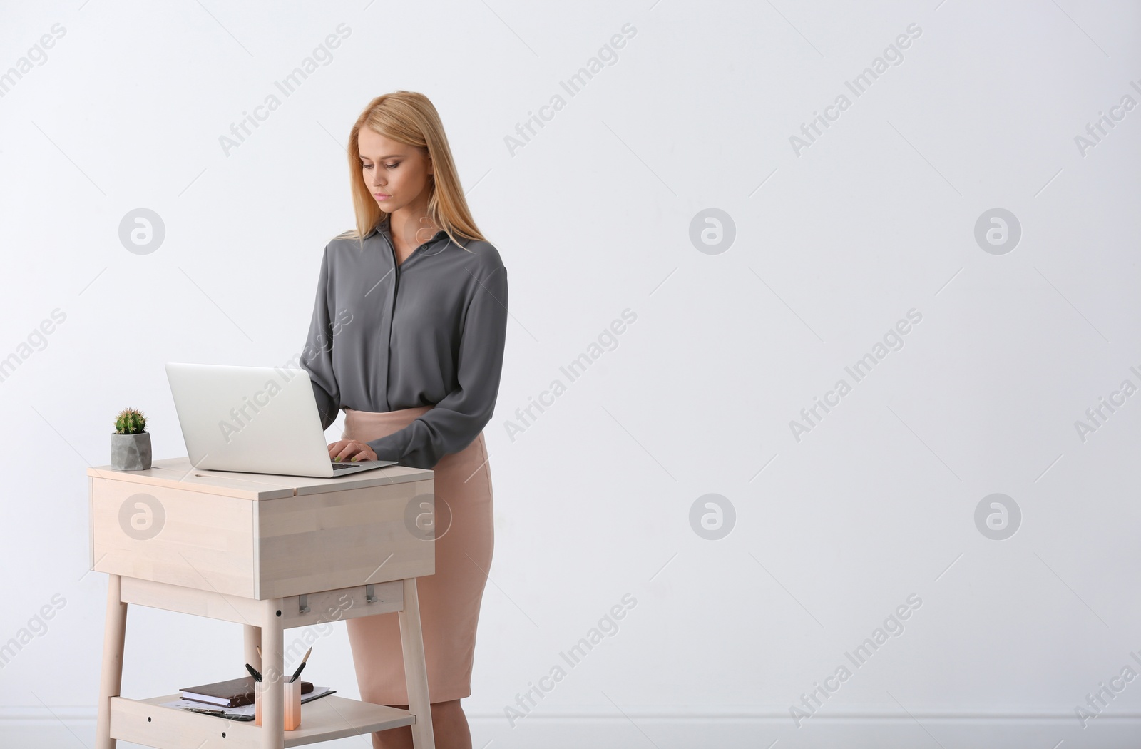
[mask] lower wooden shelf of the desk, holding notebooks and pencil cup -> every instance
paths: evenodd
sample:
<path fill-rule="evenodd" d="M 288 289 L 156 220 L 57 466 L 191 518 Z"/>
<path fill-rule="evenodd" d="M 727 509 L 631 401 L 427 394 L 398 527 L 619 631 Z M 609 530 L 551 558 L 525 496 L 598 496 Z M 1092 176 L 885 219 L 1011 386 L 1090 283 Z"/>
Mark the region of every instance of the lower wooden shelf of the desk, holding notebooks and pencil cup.
<path fill-rule="evenodd" d="M 172 702 L 180 696 L 168 694 L 148 700 L 111 698 L 112 738 L 164 749 L 199 749 L 203 746 L 258 749 L 261 746 L 261 726 L 254 725 L 252 720 L 228 720 L 160 707 L 161 703 Z M 301 725 L 296 731 L 285 732 L 285 746 L 300 747 L 318 741 L 366 735 L 373 731 L 412 725 L 415 722 L 416 717 L 408 710 L 335 695 L 323 696 L 301 706 Z"/>

